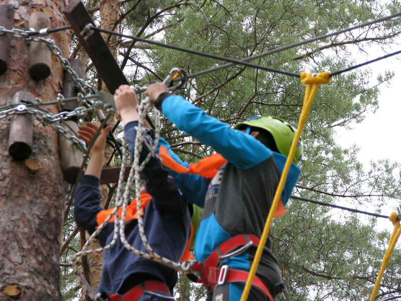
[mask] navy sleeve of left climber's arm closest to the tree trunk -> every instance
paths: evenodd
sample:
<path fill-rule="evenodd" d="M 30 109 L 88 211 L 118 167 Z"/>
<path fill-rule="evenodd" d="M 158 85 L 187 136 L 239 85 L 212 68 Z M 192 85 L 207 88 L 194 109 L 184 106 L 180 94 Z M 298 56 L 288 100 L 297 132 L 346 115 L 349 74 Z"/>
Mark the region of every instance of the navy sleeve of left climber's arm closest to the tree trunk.
<path fill-rule="evenodd" d="M 99 179 L 95 176 L 84 175 L 77 188 L 74 199 L 74 216 L 79 227 L 90 234 L 95 232 L 97 214 L 103 210 L 100 206 Z M 112 226 L 107 225 L 97 236 L 100 245 L 106 244 L 107 236 L 112 232 Z"/>

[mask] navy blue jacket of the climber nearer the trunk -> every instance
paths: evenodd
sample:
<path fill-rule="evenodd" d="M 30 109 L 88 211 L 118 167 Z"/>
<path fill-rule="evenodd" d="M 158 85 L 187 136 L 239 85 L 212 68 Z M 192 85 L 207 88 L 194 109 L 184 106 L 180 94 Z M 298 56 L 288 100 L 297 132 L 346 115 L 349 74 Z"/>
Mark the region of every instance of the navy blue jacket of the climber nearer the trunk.
<path fill-rule="evenodd" d="M 136 126 L 137 122 L 134 121 L 124 127 L 125 139 L 132 153 Z M 141 158 L 147 153 L 148 148 L 144 145 Z M 148 242 L 156 253 L 177 262 L 189 235 L 190 214 L 187 203 L 175 181 L 168 177 L 168 172 L 161 167 L 159 159 L 151 158 L 142 176 L 145 179 L 146 190 L 152 196 L 143 216 Z M 75 195 L 74 214 L 77 224 L 93 233 L 97 226 L 96 215 L 101 210 L 103 208 L 100 206 L 99 179 L 85 175 Z M 114 223 L 109 223 L 101 231 L 97 237 L 101 246 L 111 242 L 113 230 Z M 125 236 L 131 246 L 146 252 L 139 236 L 137 220 L 125 224 Z M 105 251 L 102 279 L 97 291 L 117 293 L 124 280 L 128 276 L 132 277 L 134 273 L 151 274 L 166 283 L 171 291 L 177 281 L 175 270 L 131 253 L 118 239 L 111 249 Z"/>

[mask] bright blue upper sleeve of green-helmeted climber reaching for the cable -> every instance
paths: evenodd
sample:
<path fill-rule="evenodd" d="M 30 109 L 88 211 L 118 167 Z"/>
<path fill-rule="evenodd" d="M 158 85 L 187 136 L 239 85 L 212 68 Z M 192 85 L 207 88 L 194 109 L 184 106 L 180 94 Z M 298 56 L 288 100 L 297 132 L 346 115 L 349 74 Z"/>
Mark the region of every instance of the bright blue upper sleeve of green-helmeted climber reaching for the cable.
<path fill-rule="evenodd" d="M 251 135 L 231 129 L 181 96 L 167 97 L 161 108 L 177 128 L 213 147 L 238 168 L 249 169 L 272 156 L 272 151 Z"/>

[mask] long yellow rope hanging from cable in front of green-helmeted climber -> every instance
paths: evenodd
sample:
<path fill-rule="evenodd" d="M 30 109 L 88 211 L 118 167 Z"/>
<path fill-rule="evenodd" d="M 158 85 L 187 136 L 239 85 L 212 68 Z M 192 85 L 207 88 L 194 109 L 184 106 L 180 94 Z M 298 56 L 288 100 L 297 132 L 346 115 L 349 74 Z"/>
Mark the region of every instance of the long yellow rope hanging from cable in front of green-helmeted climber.
<path fill-rule="evenodd" d="M 251 285 L 252 285 L 252 280 L 256 274 L 256 270 L 258 268 L 260 258 L 262 257 L 263 248 L 266 244 L 266 241 L 267 241 L 267 238 L 268 238 L 268 235 L 270 232 L 270 226 L 273 221 L 274 214 L 277 210 L 277 206 L 279 204 L 281 193 L 283 192 L 283 189 L 285 186 L 285 182 L 287 180 L 288 172 L 290 170 L 291 163 L 292 163 L 292 157 L 294 157 L 294 155 L 295 155 L 297 143 L 301 136 L 301 132 L 306 123 L 306 120 L 308 119 L 308 115 L 309 115 L 309 111 L 310 111 L 310 107 L 312 105 L 313 99 L 316 96 L 316 92 L 319 88 L 319 85 L 327 84 L 330 82 L 330 73 L 322 72 L 322 73 L 317 74 L 316 76 L 313 76 L 311 73 L 302 72 L 301 73 L 301 82 L 303 84 L 306 84 L 306 89 L 305 89 L 305 97 L 304 97 L 304 103 L 302 106 L 301 115 L 299 116 L 298 129 L 295 133 L 294 139 L 292 140 L 290 153 L 288 154 L 287 161 L 284 165 L 283 173 L 281 175 L 279 185 L 277 187 L 276 193 L 273 198 L 272 207 L 270 209 L 269 215 L 267 216 L 266 224 L 263 229 L 260 243 L 258 245 L 258 249 L 256 250 L 255 258 L 254 258 L 254 261 L 252 262 L 252 266 L 249 271 L 249 276 L 248 276 L 247 282 L 245 284 L 244 292 L 242 293 L 242 296 L 241 296 L 241 301 L 246 301 L 248 298 L 249 291 L 250 291 Z"/>

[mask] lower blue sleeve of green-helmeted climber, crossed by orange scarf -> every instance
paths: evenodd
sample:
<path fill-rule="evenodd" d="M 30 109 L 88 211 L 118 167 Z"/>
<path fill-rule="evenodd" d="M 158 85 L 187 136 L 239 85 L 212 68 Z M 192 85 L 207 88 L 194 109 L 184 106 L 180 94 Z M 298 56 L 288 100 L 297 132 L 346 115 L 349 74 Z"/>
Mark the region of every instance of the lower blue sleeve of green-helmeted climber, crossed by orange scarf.
<path fill-rule="evenodd" d="M 167 148 L 168 153 L 175 162 L 184 167 L 189 167 L 189 164 L 183 162 L 173 152 L 170 144 L 168 144 L 168 142 L 162 137 L 159 138 L 159 146 L 160 145 L 163 145 Z M 168 168 L 165 169 L 168 170 L 170 176 L 173 177 L 177 182 L 178 188 L 184 195 L 185 199 L 191 204 L 196 204 L 197 206 L 204 208 L 206 192 L 208 191 L 210 179 L 201 177 L 199 175 L 180 174 Z"/>

